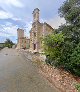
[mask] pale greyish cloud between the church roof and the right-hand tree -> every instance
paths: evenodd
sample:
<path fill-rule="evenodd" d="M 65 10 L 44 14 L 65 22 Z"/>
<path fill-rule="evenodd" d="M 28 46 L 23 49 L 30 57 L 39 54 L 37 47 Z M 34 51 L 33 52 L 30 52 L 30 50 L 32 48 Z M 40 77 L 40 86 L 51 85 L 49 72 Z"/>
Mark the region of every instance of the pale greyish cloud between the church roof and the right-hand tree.
<path fill-rule="evenodd" d="M 59 16 L 55 16 L 53 19 L 47 20 L 47 23 L 50 24 L 53 28 L 59 28 L 62 24 L 65 24 L 66 21 L 64 18 L 60 18 Z"/>

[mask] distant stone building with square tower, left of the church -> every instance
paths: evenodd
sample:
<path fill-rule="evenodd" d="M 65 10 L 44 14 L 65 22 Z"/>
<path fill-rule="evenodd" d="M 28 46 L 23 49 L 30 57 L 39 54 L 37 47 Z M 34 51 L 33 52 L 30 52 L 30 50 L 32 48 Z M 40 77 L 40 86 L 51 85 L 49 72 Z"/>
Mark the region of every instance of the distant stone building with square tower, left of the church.
<path fill-rule="evenodd" d="M 17 36 L 18 36 L 18 42 L 17 42 L 17 49 L 29 49 L 29 38 L 24 37 L 24 30 L 23 29 L 17 29 Z"/>

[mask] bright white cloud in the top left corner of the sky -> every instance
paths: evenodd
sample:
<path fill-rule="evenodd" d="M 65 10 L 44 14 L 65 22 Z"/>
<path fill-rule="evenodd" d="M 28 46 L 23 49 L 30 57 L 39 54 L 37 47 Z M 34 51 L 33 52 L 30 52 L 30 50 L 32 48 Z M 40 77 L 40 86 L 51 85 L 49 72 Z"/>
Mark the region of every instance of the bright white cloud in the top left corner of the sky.
<path fill-rule="evenodd" d="M 0 0 L 1 4 L 6 4 L 6 5 L 13 5 L 15 7 L 24 7 L 24 5 L 20 2 L 20 0 Z"/>

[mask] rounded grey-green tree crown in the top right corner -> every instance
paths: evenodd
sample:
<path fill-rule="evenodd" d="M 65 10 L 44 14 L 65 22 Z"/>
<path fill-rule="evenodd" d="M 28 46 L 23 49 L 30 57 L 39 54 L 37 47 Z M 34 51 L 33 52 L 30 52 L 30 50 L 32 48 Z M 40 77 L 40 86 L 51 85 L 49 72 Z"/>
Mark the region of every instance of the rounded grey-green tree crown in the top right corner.
<path fill-rule="evenodd" d="M 66 0 L 59 9 L 60 16 L 70 24 L 80 24 L 80 0 Z"/>

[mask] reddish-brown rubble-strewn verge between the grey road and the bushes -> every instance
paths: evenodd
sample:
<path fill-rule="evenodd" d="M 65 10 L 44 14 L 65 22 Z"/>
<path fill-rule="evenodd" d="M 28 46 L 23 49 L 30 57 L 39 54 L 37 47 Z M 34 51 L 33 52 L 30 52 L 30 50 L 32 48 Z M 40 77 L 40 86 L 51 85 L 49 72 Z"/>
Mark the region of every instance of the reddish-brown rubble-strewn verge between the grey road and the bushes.
<path fill-rule="evenodd" d="M 61 92 L 78 92 L 75 88 L 77 81 L 68 72 L 57 69 L 43 63 L 39 56 L 34 56 L 33 60 L 38 63 L 40 67 L 40 73 L 42 73 L 55 87 L 61 90 Z"/>

